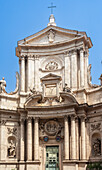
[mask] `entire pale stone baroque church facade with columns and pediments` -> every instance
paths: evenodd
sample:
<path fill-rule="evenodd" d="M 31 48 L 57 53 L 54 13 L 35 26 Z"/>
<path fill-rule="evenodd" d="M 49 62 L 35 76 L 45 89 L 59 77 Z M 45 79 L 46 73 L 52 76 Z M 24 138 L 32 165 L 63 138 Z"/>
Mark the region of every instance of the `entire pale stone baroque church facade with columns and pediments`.
<path fill-rule="evenodd" d="M 14 92 L 0 81 L 0 169 L 85 170 L 102 161 L 102 75 L 91 83 L 91 39 L 48 26 L 18 41 Z"/>

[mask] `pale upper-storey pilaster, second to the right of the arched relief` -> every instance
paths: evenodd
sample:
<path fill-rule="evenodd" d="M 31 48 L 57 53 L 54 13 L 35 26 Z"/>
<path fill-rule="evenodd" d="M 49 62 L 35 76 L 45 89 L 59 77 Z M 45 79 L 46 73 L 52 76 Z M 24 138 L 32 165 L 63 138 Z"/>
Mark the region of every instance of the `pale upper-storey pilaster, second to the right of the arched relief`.
<path fill-rule="evenodd" d="M 72 65 L 72 88 L 77 88 L 77 51 L 75 50 L 71 56 L 71 65 Z"/>

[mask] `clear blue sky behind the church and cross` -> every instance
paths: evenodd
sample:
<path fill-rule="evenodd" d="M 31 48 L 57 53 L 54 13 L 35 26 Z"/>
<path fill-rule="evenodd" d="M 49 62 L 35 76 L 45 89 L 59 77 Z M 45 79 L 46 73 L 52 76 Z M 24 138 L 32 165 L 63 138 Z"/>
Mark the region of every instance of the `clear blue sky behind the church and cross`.
<path fill-rule="evenodd" d="M 91 38 L 92 83 L 100 84 L 102 0 L 0 0 L 0 80 L 5 78 L 7 92 L 14 91 L 19 72 L 17 41 L 47 27 L 51 2 L 56 6 L 53 13 L 58 27 L 85 31 Z"/>

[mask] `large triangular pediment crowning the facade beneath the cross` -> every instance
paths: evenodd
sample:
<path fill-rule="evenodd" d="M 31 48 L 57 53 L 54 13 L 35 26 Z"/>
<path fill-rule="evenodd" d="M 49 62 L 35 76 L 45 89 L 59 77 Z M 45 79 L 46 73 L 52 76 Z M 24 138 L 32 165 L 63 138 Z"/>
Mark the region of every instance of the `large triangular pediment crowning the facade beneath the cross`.
<path fill-rule="evenodd" d="M 85 32 L 68 30 L 56 26 L 49 26 L 40 32 L 18 41 L 18 45 L 36 46 L 51 45 L 61 42 L 68 42 L 86 36 Z M 88 37 L 87 37 L 88 38 Z"/>

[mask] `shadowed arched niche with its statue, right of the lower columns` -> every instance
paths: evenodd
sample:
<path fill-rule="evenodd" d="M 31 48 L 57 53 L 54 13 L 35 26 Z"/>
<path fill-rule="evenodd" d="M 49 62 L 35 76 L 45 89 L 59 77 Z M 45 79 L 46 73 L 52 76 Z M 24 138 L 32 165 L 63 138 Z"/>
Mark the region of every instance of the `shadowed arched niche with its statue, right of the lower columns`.
<path fill-rule="evenodd" d="M 92 135 L 92 156 L 101 155 L 101 136 L 99 133 Z"/>

